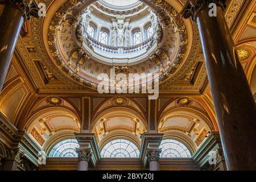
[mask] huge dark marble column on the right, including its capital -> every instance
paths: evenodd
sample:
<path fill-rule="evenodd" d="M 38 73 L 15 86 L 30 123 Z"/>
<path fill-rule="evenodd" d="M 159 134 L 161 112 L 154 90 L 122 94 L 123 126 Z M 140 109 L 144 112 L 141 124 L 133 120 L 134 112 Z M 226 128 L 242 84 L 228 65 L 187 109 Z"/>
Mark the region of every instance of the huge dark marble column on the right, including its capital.
<path fill-rule="evenodd" d="M 216 9 L 209 7 L 210 3 L 215 3 Z M 255 102 L 224 9 L 224 1 L 190 0 L 183 16 L 192 16 L 199 27 L 227 168 L 255 170 Z M 210 16 L 213 10 L 216 16 Z"/>

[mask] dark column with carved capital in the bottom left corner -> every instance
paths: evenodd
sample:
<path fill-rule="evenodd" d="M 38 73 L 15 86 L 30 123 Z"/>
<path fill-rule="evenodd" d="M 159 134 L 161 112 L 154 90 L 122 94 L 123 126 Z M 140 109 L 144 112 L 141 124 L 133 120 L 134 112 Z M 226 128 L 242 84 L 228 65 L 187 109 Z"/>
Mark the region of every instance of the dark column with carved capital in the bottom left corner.
<path fill-rule="evenodd" d="M 24 156 L 24 153 L 20 149 L 6 150 L 5 164 L 3 164 L 3 171 L 17 171 L 20 157 Z"/>

